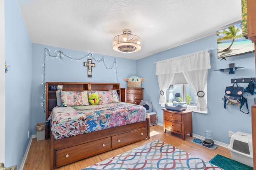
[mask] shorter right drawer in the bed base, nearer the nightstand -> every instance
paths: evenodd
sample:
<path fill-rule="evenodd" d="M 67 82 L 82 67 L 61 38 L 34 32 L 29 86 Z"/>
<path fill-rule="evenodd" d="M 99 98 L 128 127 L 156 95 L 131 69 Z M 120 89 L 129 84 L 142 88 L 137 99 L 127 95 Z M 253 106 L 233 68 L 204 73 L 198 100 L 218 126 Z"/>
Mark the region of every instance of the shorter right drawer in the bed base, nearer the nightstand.
<path fill-rule="evenodd" d="M 133 136 L 136 137 L 136 140 L 134 140 Z M 124 134 L 118 134 L 116 136 L 112 136 L 112 148 L 118 148 L 120 146 L 124 146 L 126 144 L 130 144 L 133 142 L 137 142 L 138 140 L 146 139 L 147 136 L 147 128 L 140 128 L 131 132 L 127 132 Z"/>

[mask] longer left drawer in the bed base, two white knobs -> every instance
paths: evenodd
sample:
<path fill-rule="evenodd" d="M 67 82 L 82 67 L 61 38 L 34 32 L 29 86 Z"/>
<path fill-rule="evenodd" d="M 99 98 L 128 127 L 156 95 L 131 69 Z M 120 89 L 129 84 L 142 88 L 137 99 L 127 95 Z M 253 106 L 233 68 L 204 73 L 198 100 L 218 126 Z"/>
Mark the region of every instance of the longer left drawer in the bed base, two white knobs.
<path fill-rule="evenodd" d="M 146 134 L 146 133 L 145 133 Z M 56 151 L 56 166 L 62 166 L 74 162 L 75 160 L 81 160 L 90 157 L 91 153 L 95 155 L 95 152 L 102 153 L 111 148 L 111 138 L 103 138 L 101 140 L 96 140 L 88 142 L 85 144 L 80 144 L 77 146 L 72 146 L 70 148 L 65 148 Z"/>

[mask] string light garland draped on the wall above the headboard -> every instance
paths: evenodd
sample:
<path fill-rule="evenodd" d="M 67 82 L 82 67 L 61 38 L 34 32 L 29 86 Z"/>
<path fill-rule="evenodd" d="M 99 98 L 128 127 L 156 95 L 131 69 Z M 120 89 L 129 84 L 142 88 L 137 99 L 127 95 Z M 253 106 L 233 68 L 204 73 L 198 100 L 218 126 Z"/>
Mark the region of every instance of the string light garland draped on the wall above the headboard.
<path fill-rule="evenodd" d="M 117 65 L 116 65 L 116 58 L 115 58 L 115 61 L 112 63 L 112 66 L 111 67 L 108 67 L 107 65 L 106 65 L 106 63 L 105 63 L 105 59 L 104 59 L 104 57 L 102 56 L 102 58 L 101 59 L 96 59 L 96 58 L 94 58 L 93 56 L 92 56 L 92 54 L 91 53 L 88 53 L 88 55 L 86 55 L 86 56 L 84 56 L 84 57 L 81 57 L 81 58 L 72 58 L 72 57 L 70 57 L 70 56 L 68 56 L 68 55 L 65 55 L 62 51 L 56 51 L 56 53 L 55 53 L 55 55 L 51 55 L 50 53 L 49 53 L 49 49 L 47 49 L 47 48 L 44 48 L 44 62 L 43 62 L 43 85 L 44 85 L 44 93 L 43 93 L 43 95 L 42 95 L 42 99 L 43 99 L 43 102 L 42 102 L 42 107 L 43 107 L 43 109 L 44 109 L 44 102 L 45 102 L 45 93 L 46 93 L 46 83 L 45 83 L 45 61 L 46 61 L 46 56 L 48 56 L 48 57 L 56 57 L 56 58 L 59 58 L 60 60 L 62 60 L 63 59 L 63 57 L 67 57 L 67 58 L 69 58 L 69 59 L 71 59 L 71 60 L 76 60 L 76 61 L 81 61 L 82 59 L 85 59 L 85 58 L 87 58 L 87 57 L 90 57 L 90 58 L 92 58 L 92 59 L 94 59 L 94 61 L 95 62 L 98 62 L 98 63 L 100 63 L 100 62 L 103 62 L 104 63 L 104 67 L 105 67 L 105 69 L 106 70 L 108 70 L 108 69 L 115 69 L 114 71 L 116 72 L 116 81 L 117 81 L 117 83 L 119 83 L 119 81 L 118 81 L 118 75 L 117 75 Z M 44 109 L 44 111 L 45 111 L 45 109 Z"/>

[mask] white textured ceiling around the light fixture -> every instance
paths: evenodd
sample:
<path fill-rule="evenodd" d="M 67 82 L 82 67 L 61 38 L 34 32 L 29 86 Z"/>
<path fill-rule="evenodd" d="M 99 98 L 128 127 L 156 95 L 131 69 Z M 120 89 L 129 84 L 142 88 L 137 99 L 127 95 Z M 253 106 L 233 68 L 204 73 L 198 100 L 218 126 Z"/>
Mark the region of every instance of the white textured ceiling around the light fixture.
<path fill-rule="evenodd" d="M 241 20 L 241 0 L 17 0 L 32 43 L 140 59 Z M 112 49 L 124 29 L 142 39 L 136 53 Z"/>

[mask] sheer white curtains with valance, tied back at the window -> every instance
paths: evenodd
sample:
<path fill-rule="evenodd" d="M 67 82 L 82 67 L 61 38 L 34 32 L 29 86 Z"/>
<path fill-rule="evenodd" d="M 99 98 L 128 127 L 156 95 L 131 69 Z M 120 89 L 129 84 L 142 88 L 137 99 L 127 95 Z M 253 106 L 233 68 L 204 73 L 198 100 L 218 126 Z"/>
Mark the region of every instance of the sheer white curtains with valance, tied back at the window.
<path fill-rule="evenodd" d="M 200 111 L 206 111 L 207 105 L 204 96 L 204 87 L 207 81 L 208 69 L 210 68 L 210 56 L 208 51 L 204 50 L 156 62 L 156 75 L 158 77 L 159 75 L 170 77 L 169 80 L 172 81 L 175 73 L 183 73 L 187 83 L 198 93 L 198 109 Z M 168 85 L 163 86 L 165 83 L 167 83 L 166 78 L 158 78 L 160 90 L 166 91 L 168 87 L 166 89 L 164 88 L 171 84 L 170 82 Z M 159 104 L 166 102 L 163 99 L 164 97 L 160 95 Z"/>

